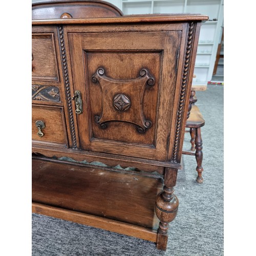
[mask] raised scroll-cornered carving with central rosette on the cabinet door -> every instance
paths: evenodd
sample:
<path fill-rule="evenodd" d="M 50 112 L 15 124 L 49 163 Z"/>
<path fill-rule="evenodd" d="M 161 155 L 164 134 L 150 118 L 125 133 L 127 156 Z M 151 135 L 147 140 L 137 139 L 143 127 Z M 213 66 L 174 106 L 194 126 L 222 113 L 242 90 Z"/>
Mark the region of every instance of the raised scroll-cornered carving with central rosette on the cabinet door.
<path fill-rule="evenodd" d="M 107 123 L 111 121 L 133 123 L 138 133 L 145 133 L 152 126 L 152 121 L 147 120 L 143 114 L 145 89 L 147 86 L 152 87 L 155 84 L 155 79 L 150 72 L 142 69 L 139 71 L 138 78 L 124 80 L 107 77 L 104 69 L 98 68 L 91 79 L 93 83 L 99 84 L 101 92 L 104 92 L 104 95 L 101 95 L 102 112 L 100 115 L 94 116 L 94 121 L 99 124 L 101 129 L 106 129 Z M 113 94 L 114 92 L 120 93 Z M 133 111 L 128 111 L 131 108 Z M 105 111 L 106 109 L 108 111 Z M 134 110 L 137 111 L 137 115 L 134 115 Z M 120 113 L 119 115 L 116 114 L 117 111 Z"/>

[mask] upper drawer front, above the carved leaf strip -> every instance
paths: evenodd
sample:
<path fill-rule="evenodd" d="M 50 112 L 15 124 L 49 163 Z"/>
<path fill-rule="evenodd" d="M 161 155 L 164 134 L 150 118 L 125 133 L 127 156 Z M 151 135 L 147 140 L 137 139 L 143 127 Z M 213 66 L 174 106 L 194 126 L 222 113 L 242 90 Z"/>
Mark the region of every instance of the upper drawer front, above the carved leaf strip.
<path fill-rule="evenodd" d="M 54 33 L 32 33 L 32 80 L 59 81 Z"/>

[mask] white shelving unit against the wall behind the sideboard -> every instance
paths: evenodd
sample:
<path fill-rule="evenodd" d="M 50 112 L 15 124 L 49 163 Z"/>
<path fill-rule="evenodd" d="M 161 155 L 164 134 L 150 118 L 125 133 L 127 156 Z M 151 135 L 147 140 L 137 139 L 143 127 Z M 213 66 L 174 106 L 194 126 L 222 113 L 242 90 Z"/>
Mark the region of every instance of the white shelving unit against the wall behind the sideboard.
<path fill-rule="evenodd" d="M 193 84 L 211 80 L 223 25 L 223 0 L 109 0 L 124 14 L 201 13 L 209 16 L 200 31 Z M 216 20 L 215 20 L 216 19 Z"/>

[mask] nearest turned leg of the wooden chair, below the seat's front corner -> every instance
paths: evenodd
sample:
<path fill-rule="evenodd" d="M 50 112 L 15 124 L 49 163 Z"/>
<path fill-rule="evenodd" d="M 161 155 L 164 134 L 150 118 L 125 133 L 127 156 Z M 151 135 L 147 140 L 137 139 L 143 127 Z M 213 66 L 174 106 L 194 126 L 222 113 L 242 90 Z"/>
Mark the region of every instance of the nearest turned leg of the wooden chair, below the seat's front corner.
<path fill-rule="evenodd" d="M 203 183 L 203 177 L 202 177 L 202 172 L 203 172 L 203 167 L 202 167 L 202 161 L 203 161 L 203 141 L 201 137 L 201 128 L 196 129 L 196 160 L 197 160 L 197 182 L 198 183 Z"/>

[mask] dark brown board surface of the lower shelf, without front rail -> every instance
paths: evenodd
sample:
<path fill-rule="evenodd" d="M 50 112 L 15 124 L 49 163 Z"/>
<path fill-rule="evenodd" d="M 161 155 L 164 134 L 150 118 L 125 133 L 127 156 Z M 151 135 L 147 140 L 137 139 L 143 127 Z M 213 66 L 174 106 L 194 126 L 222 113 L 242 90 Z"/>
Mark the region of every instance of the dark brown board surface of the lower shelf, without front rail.
<path fill-rule="evenodd" d="M 162 179 L 32 159 L 32 201 L 157 229 Z"/>

